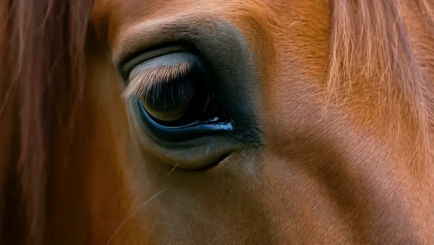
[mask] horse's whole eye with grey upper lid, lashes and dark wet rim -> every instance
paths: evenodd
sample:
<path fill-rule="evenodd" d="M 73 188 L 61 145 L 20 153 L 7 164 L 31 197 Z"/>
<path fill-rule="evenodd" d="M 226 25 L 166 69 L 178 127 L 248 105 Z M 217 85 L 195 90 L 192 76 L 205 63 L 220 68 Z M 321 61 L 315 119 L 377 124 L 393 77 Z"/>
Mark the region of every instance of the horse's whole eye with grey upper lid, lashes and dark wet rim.
<path fill-rule="evenodd" d="M 189 52 L 159 56 L 129 72 L 127 97 L 137 97 L 144 124 L 156 137 L 182 141 L 233 130 L 212 93 L 200 57 Z"/>

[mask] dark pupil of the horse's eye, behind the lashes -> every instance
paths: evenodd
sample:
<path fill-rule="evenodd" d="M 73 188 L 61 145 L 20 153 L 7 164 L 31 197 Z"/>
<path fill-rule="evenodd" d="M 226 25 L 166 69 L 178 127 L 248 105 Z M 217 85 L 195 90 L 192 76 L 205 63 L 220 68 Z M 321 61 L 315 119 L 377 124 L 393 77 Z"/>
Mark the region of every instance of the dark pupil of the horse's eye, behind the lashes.
<path fill-rule="evenodd" d="M 145 103 L 158 111 L 171 111 L 180 106 L 188 106 L 197 91 L 196 82 L 191 76 L 160 82 L 148 91 Z"/>

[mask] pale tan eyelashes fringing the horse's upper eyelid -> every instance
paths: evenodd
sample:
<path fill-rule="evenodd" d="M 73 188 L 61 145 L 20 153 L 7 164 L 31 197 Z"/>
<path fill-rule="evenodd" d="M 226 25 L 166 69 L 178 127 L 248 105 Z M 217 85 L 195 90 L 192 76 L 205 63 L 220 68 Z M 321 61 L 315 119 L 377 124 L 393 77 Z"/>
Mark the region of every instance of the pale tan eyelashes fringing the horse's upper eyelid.
<path fill-rule="evenodd" d="M 186 76 L 190 71 L 191 64 L 188 62 L 179 63 L 176 66 L 137 67 L 131 71 L 128 86 L 123 92 L 122 97 L 126 100 L 137 100 L 140 96 L 148 96 L 151 90 L 158 91 L 160 84 L 163 85 L 164 83 Z M 181 96 L 181 90 L 179 91 L 180 97 L 183 97 Z"/>

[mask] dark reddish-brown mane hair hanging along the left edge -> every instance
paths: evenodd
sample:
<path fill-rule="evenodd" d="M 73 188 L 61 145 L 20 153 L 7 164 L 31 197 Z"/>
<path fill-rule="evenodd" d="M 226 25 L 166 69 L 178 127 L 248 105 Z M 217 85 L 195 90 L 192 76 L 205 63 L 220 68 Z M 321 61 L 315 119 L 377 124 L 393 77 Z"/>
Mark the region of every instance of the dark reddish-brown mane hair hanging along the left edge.
<path fill-rule="evenodd" d="M 48 170 L 56 135 L 72 137 L 91 8 L 86 0 L 0 3 L 1 244 L 45 243 Z"/>

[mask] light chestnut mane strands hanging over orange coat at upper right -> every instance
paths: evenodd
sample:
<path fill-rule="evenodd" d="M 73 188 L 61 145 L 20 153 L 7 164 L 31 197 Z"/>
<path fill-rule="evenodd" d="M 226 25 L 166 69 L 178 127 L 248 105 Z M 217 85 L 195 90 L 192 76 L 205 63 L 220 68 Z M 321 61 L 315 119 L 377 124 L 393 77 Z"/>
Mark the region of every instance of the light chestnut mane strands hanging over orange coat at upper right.
<path fill-rule="evenodd" d="M 419 30 L 413 34 L 422 30 L 431 38 L 425 41 L 433 40 L 434 12 L 426 0 L 410 2 L 332 1 L 326 104 L 353 103 L 363 107 L 364 113 L 389 118 L 380 122 L 387 124 L 381 127 L 404 142 L 417 138 L 419 152 L 414 157 L 422 155 L 429 162 L 432 142 L 428 131 L 434 118 L 427 87 L 432 86 L 432 78 L 425 74 L 411 46 L 409 32 L 414 27 L 409 18 L 422 16 L 425 22 L 417 23 Z"/>

